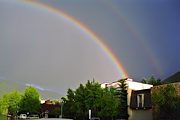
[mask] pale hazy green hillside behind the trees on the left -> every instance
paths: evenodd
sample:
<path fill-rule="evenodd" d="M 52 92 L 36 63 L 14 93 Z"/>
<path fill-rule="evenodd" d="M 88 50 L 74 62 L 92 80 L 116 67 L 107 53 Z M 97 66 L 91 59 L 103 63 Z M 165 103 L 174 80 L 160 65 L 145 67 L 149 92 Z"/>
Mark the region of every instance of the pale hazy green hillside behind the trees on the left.
<path fill-rule="evenodd" d="M 26 86 L 20 83 L 7 81 L 7 80 L 0 80 L 0 97 L 8 92 L 13 90 L 18 90 L 20 92 L 24 92 Z M 42 99 L 60 99 L 61 95 L 56 92 L 51 91 L 41 91 L 37 89 Z"/>

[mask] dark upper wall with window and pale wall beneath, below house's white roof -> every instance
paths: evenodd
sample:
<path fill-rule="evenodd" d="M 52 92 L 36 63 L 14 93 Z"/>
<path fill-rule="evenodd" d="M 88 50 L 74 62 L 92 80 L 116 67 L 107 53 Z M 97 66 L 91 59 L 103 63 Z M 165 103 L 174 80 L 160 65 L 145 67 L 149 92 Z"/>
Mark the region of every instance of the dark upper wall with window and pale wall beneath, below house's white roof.
<path fill-rule="evenodd" d="M 129 120 L 152 120 L 151 89 L 132 90 Z"/>

